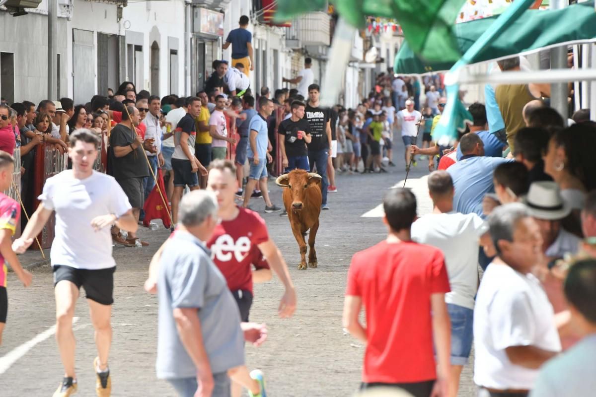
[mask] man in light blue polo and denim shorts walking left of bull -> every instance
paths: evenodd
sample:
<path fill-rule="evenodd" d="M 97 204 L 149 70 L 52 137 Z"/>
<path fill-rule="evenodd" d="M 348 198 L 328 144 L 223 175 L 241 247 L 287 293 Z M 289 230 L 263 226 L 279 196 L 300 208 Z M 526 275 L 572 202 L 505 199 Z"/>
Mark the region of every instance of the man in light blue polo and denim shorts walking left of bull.
<path fill-rule="evenodd" d="M 265 200 L 265 212 L 277 212 L 281 211 L 281 208 L 271 202 L 267 190 L 267 162 L 272 160 L 271 155 L 267 152 L 267 143 L 269 142 L 267 117 L 274 110 L 273 101 L 266 96 L 261 96 L 258 110 L 259 114 L 254 115 L 249 124 L 250 136 L 247 157 L 249 158 L 250 174 L 249 182 L 246 183 L 246 190 L 244 190 L 243 207 L 249 206 L 250 196 L 257 182 L 259 182 Z"/>

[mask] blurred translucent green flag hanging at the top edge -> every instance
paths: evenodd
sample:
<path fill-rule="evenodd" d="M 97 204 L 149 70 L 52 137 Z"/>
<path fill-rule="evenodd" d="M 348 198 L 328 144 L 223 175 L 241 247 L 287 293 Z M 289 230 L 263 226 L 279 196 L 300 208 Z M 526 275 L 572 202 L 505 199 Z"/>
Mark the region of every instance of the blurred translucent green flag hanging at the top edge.
<path fill-rule="evenodd" d="M 364 27 L 365 17 L 398 20 L 414 52 L 426 60 L 457 61 L 460 49 L 453 32 L 455 18 L 465 0 L 332 0 L 337 12 L 353 26 Z M 321 0 L 278 0 L 276 21 L 287 21 L 303 12 L 321 11 Z"/>

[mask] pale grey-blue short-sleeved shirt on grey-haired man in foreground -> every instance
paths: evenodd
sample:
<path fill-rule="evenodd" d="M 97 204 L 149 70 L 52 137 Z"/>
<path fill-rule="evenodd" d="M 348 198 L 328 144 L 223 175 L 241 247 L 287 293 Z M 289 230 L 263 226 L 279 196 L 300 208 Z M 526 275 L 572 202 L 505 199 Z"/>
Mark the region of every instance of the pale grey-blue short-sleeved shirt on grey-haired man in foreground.
<path fill-rule="evenodd" d="M 244 335 L 228 283 L 197 237 L 177 230 L 160 260 L 157 377 L 194 378 L 197 369 L 176 329 L 173 311 L 197 309 L 203 345 L 214 374 L 244 365 Z"/>

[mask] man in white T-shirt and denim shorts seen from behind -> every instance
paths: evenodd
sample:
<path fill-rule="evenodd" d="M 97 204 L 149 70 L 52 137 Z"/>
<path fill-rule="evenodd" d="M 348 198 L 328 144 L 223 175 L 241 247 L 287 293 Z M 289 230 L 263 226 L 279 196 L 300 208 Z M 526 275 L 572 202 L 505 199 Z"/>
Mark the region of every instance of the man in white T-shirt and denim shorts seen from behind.
<path fill-rule="evenodd" d="M 451 380 L 449 396 L 457 396 L 461 371 L 472 349 L 474 296 L 478 289 L 478 249 L 491 244 L 488 224 L 478 215 L 453 210 L 453 180 L 447 171 L 429 176 L 431 214 L 412 224 L 412 240 L 443 251 L 451 292 L 445 302 L 451 318 Z"/>

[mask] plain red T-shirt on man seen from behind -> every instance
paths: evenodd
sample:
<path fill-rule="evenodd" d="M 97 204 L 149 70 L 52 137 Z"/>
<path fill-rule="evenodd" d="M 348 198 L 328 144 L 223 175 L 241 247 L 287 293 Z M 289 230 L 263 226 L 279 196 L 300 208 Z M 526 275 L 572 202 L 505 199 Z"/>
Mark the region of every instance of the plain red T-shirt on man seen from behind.
<path fill-rule="evenodd" d="M 360 296 L 367 319 L 362 380 L 436 379 L 430 296 L 449 292 L 442 252 L 415 242 L 380 242 L 356 252 L 346 295 Z"/>

